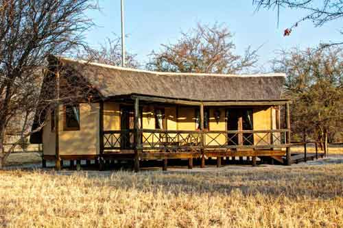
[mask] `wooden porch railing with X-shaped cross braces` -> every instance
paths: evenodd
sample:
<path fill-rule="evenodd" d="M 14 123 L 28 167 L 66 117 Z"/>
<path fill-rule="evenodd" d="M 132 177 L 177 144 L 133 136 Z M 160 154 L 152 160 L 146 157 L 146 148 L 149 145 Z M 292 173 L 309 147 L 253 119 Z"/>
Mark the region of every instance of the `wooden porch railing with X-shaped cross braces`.
<path fill-rule="evenodd" d="M 139 129 L 137 149 L 271 149 L 287 147 L 288 129 L 244 131 L 173 131 Z M 104 131 L 104 150 L 134 149 L 134 130 Z"/>

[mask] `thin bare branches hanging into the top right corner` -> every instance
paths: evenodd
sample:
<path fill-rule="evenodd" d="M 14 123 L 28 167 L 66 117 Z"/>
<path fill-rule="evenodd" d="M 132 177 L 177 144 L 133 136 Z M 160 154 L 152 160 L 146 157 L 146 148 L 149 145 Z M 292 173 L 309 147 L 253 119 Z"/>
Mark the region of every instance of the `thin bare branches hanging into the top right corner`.
<path fill-rule="evenodd" d="M 303 21 L 311 21 L 316 26 L 322 26 L 330 21 L 339 20 L 343 17 L 342 0 L 253 0 L 252 3 L 257 5 L 257 10 L 261 8 L 268 10 L 276 8 L 278 12 L 278 21 L 281 7 L 301 9 L 308 12 L 306 16 L 299 18 L 292 26 L 285 29 L 284 36 L 289 36 L 292 29 L 297 27 L 298 24 Z M 331 45 L 343 45 L 343 42 L 329 42 L 322 44 L 322 47 L 328 47 Z"/>

